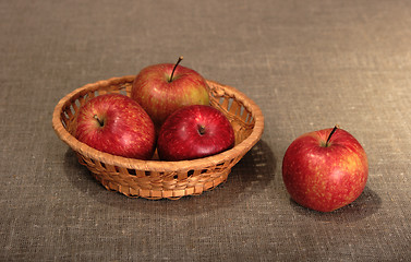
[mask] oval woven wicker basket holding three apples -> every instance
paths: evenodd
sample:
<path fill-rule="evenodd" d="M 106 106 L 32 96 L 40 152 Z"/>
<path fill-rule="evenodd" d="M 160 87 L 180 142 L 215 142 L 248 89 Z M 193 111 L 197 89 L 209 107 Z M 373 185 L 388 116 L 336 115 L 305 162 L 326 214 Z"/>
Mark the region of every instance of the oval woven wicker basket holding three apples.
<path fill-rule="evenodd" d="M 78 109 L 107 93 L 130 96 L 135 75 L 86 84 L 63 97 L 55 108 L 52 127 L 93 176 L 108 190 L 145 199 L 180 199 L 201 194 L 226 181 L 231 168 L 258 142 L 264 116 L 256 104 L 234 87 L 207 80 L 210 105 L 222 111 L 235 133 L 235 146 L 217 155 L 180 162 L 125 158 L 104 153 L 75 139 Z"/>

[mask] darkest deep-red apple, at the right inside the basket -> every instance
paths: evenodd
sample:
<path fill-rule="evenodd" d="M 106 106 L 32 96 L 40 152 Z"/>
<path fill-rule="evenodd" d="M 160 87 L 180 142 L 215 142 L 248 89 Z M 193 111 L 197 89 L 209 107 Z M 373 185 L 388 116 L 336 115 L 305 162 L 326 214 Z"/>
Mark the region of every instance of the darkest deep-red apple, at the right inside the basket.
<path fill-rule="evenodd" d="M 229 150 L 234 142 L 234 131 L 222 112 L 210 106 L 194 105 L 177 110 L 166 120 L 157 150 L 160 159 L 189 160 Z"/>

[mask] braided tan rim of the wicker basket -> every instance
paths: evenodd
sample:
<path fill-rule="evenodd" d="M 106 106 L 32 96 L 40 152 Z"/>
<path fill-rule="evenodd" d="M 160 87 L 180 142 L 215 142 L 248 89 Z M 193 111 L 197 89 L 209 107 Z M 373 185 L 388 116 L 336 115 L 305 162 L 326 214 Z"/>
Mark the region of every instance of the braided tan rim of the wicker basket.
<path fill-rule="evenodd" d="M 112 155 L 109 153 L 100 152 L 88 146 L 85 143 L 80 142 L 75 136 L 73 136 L 62 124 L 61 122 L 61 114 L 64 107 L 70 105 L 70 102 L 73 100 L 73 97 L 76 97 L 78 94 L 84 93 L 87 90 L 97 91 L 101 85 L 110 85 L 110 84 L 118 84 L 121 82 L 132 82 L 135 75 L 125 75 L 120 78 L 111 78 L 108 80 L 97 81 L 95 83 L 86 84 L 82 87 L 74 90 L 73 92 L 65 95 L 63 98 L 59 100 L 57 106 L 55 107 L 52 114 L 52 127 L 59 136 L 64 143 L 67 143 L 73 151 L 81 153 L 86 157 L 90 157 L 102 163 L 125 167 L 130 169 L 140 169 L 140 170 L 147 170 L 147 171 L 182 171 L 182 170 L 191 170 L 191 169 L 198 169 L 206 166 L 215 166 L 219 163 L 222 163 L 225 159 L 231 159 L 241 153 L 246 153 L 255 145 L 255 143 L 261 139 L 263 131 L 264 131 L 264 116 L 259 107 L 250 99 L 245 94 L 238 91 L 237 88 L 220 84 L 216 81 L 206 80 L 207 84 L 209 85 L 219 85 L 225 90 L 225 93 L 234 96 L 237 99 L 241 100 L 245 107 L 251 108 L 250 112 L 254 118 L 254 128 L 252 133 L 241 143 L 237 144 L 231 150 L 221 152 L 219 154 L 207 156 L 203 158 L 192 159 L 192 160 L 179 160 L 179 162 L 166 162 L 166 160 L 142 160 L 135 158 L 126 158 L 122 156 Z M 74 98 L 75 99 L 75 98 Z"/>

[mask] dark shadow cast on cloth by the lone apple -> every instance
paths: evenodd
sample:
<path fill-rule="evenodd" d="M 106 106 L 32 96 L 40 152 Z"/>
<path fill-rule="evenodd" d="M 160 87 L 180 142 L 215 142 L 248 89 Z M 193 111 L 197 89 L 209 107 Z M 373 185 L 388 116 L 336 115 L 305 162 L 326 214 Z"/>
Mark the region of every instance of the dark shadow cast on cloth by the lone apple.
<path fill-rule="evenodd" d="M 290 199 L 290 203 L 298 213 L 313 217 L 316 221 L 350 223 L 361 221 L 375 214 L 380 209 L 382 199 L 372 189 L 365 187 L 364 191 L 355 201 L 333 212 L 323 213 L 313 211 L 301 206 L 292 199 Z"/>

